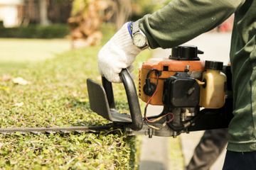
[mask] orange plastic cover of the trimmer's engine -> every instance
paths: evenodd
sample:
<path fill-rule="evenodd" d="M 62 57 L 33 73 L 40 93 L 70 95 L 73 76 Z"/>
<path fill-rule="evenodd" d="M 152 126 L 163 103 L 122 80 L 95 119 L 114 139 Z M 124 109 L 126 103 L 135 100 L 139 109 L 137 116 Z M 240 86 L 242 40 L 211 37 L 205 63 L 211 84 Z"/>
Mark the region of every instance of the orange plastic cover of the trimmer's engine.
<path fill-rule="evenodd" d="M 201 79 L 203 70 L 204 70 L 204 62 L 203 61 L 181 61 L 181 60 L 170 60 L 168 58 L 154 58 L 149 60 L 148 62 L 144 62 L 142 67 L 139 69 L 139 98 L 144 102 L 148 102 L 151 96 L 147 96 L 144 94 L 143 86 L 146 80 L 146 74 L 151 69 L 157 69 L 161 71 L 161 76 L 159 77 L 157 91 L 154 97 L 151 99 L 151 105 L 159 105 L 162 106 L 162 96 L 163 96 L 163 88 L 164 88 L 164 79 L 174 76 L 176 72 L 185 72 L 188 69 L 188 74 L 191 77 L 196 79 Z M 151 83 L 156 84 L 157 77 L 156 74 L 150 74 Z"/>

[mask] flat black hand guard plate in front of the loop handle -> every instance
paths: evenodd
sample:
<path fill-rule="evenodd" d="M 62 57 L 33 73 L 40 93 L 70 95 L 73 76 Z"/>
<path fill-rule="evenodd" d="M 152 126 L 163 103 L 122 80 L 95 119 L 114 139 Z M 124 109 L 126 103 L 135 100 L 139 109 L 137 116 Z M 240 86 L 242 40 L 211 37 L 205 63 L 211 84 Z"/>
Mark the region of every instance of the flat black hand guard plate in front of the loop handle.
<path fill-rule="evenodd" d="M 120 114 L 114 108 L 110 108 L 103 86 L 97 84 L 91 79 L 87 79 L 87 89 L 90 100 L 90 108 L 92 111 L 112 122 L 132 123 L 130 115 Z"/>

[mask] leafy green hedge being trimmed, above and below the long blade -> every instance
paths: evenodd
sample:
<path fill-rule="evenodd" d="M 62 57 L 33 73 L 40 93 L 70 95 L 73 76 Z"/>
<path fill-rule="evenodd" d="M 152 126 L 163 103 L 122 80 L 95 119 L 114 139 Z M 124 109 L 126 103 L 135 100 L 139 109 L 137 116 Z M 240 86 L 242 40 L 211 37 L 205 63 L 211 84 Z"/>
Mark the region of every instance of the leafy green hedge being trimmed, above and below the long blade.
<path fill-rule="evenodd" d="M 105 33 L 107 40 L 111 33 Z M 31 84 L 0 81 L 0 127 L 108 123 L 90 111 L 87 96 L 86 79 L 100 81 L 98 50 L 99 46 L 71 50 L 21 69 L 1 69 L 0 77 L 23 77 Z M 147 57 L 149 51 L 137 57 L 135 67 Z M 114 85 L 114 89 L 118 108 L 128 112 L 123 86 Z M 23 106 L 15 105 L 21 102 Z M 139 146 L 136 138 L 117 131 L 100 135 L 0 135 L 0 148 L 0 169 L 136 169 Z"/>

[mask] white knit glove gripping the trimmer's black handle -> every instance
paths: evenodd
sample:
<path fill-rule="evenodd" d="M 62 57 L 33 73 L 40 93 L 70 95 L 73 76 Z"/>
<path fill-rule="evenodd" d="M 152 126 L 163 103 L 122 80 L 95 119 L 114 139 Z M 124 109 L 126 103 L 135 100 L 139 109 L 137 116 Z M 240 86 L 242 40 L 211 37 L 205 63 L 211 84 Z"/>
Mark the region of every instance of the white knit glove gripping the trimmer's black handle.
<path fill-rule="evenodd" d="M 121 82 L 119 73 L 125 68 L 132 71 L 132 63 L 141 51 L 139 47 L 133 44 L 128 23 L 125 23 L 98 54 L 100 74 L 111 82 Z"/>

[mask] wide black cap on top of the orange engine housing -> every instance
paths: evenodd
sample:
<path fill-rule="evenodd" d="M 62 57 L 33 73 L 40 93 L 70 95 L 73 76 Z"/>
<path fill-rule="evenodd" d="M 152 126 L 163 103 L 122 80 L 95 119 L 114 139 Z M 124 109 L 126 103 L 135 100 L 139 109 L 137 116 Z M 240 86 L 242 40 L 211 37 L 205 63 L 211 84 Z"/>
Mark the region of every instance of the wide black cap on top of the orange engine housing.
<path fill-rule="evenodd" d="M 198 50 L 198 47 L 194 45 L 181 45 L 171 49 L 171 56 L 169 59 L 188 61 L 200 60 L 198 54 L 203 54 L 201 50 Z"/>

